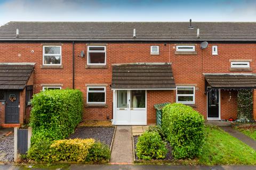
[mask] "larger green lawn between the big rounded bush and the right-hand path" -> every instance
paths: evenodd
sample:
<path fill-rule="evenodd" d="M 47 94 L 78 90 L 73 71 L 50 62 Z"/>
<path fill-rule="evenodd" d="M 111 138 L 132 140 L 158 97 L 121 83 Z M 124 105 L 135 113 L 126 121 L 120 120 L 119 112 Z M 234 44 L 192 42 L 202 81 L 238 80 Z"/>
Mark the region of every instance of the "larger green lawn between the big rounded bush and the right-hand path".
<path fill-rule="evenodd" d="M 199 164 L 256 165 L 256 151 L 216 126 L 206 126 L 206 141 Z"/>

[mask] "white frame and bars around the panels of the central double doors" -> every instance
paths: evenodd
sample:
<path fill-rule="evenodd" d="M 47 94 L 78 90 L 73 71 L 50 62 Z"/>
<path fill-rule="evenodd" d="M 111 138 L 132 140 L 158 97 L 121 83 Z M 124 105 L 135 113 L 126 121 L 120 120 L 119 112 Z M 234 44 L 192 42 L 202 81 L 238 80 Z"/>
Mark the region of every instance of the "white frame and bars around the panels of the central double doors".
<path fill-rule="evenodd" d="M 122 90 L 127 90 L 127 96 L 132 91 L 132 89 L 122 89 Z M 134 90 L 136 90 L 136 89 L 134 89 Z M 130 99 L 130 101 L 131 101 L 131 99 Z M 127 101 L 127 102 L 129 102 L 129 101 Z M 113 90 L 113 120 L 112 120 L 112 124 L 113 125 L 121 125 L 121 124 L 116 123 L 116 109 L 117 109 L 116 106 L 117 106 L 117 90 Z M 142 108 L 136 108 L 136 109 L 142 110 Z M 134 111 L 134 108 L 131 108 L 131 103 L 129 103 L 129 110 L 130 110 L 130 112 Z M 122 124 L 122 125 L 147 125 L 147 90 L 145 90 L 145 109 L 143 109 L 143 110 L 145 110 L 145 113 L 146 113 L 146 115 L 145 115 L 146 122 L 145 123 L 137 124 L 137 123 L 130 122 L 128 124 Z M 130 120 L 131 120 L 131 114 L 130 114 Z"/>

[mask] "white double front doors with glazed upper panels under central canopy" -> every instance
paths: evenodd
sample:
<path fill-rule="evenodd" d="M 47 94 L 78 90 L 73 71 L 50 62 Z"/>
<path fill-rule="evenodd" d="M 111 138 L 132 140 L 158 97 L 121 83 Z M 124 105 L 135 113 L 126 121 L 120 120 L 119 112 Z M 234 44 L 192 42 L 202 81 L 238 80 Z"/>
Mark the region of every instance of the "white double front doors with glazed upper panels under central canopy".
<path fill-rule="evenodd" d="M 116 90 L 116 125 L 146 125 L 146 91 Z"/>

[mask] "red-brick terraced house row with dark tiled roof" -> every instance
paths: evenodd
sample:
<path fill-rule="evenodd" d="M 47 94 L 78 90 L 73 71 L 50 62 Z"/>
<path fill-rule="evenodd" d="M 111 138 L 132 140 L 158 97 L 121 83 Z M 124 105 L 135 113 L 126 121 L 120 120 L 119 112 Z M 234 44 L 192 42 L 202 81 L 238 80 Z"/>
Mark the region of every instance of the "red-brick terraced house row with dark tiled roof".
<path fill-rule="evenodd" d="M 256 23 L 9 22 L 0 63 L 2 126 L 25 123 L 46 88 L 81 90 L 84 119 L 116 125 L 155 123 L 165 102 L 235 119 L 237 90 L 256 88 Z"/>

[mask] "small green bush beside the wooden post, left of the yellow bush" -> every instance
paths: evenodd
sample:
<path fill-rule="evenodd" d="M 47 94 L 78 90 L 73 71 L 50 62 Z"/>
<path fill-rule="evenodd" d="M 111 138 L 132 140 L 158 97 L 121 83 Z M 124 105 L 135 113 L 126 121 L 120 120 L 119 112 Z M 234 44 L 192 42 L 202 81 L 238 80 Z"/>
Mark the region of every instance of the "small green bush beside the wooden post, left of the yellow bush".
<path fill-rule="evenodd" d="M 36 145 L 32 145 L 28 150 L 28 159 L 32 159 L 35 161 L 45 161 L 50 162 L 50 146 L 52 145 L 52 141 L 50 140 L 41 140 L 36 143 Z"/>

